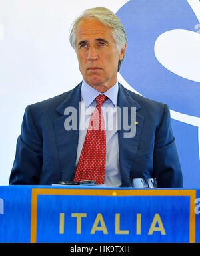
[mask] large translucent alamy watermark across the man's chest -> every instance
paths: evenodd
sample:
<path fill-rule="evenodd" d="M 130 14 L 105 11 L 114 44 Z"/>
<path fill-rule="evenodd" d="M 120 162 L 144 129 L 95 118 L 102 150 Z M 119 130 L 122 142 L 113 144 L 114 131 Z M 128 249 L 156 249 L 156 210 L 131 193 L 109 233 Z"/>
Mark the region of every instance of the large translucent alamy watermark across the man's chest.
<path fill-rule="evenodd" d="M 95 109 L 93 106 L 85 108 L 85 102 L 79 102 L 78 116 L 75 107 L 69 106 L 65 108 L 64 115 L 67 116 L 64 122 L 65 130 L 78 130 L 79 121 L 79 130 L 87 130 L 88 128 L 91 130 L 123 130 L 124 138 L 135 137 L 138 124 L 135 107 L 101 107 L 101 114 L 103 113 L 103 120 L 106 121 L 106 125 L 101 125 L 100 127 L 98 122 L 99 112 L 95 111 Z"/>

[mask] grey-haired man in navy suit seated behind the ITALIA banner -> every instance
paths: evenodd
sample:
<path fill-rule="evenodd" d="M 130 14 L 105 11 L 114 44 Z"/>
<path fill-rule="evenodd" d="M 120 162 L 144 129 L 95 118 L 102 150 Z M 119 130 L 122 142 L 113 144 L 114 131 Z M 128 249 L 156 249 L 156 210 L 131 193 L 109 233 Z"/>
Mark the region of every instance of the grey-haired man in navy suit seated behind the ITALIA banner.
<path fill-rule="evenodd" d="M 27 106 L 10 184 L 96 180 L 117 187 L 130 186 L 133 178 L 156 178 L 159 187 L 182 187 L 168 106 L 117 82 L 127 46 L 118 17 L 105 8 L 86 10 L 75 20 L 70 42 L 83 82 L 69 92 Z M 85 130 L 79 102 L 86 110 L 94 109 Z M 125 115 L 123 110 L 134 108 L 134 136 L 127 136 L 123 125 L 108 130 L 110 119 L 116 121 L 119 116 L 113 112 L 107 120 L 103 107 L 121 109 L 121 124 L 131 120 L 130 112 Z M 66 120 L 74 109 L 77 125 L 70 129 Z M 100 129 L 94 129 L 95 125 Z"/>

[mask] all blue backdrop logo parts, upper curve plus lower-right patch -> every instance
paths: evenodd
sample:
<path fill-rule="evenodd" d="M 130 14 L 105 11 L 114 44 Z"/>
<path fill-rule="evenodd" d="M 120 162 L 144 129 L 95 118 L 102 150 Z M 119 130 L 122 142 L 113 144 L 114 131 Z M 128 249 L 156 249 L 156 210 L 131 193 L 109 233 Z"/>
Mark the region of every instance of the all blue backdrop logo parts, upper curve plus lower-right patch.
<path fill-rule="evenodd" d="M 116 14 L 128 39 L 121 76 L 141 95 L 166 103 L 175 112 L 199 117 L 200 83 L 171 72 L 155 56 L 155 42 L 163 33 L 175 29 L 199 33 L 195 29 L 199 28 L 199 21 L 189 3 L 131 0 Z M 198 188 L 200 126 L 179 120 L 172 120 L 172 126 L 183 170 L 183 186 Z"/>

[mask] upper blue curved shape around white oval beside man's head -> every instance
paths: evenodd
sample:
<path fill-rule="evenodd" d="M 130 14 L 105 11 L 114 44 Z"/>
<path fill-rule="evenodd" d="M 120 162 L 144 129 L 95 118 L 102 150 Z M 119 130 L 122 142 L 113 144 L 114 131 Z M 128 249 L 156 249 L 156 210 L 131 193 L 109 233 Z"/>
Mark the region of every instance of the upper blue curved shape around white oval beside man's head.
<path fill-rule="evenodd" d="M 171 110 L 200 116 L 200 83 L 182 78 L 155 57 L 155 41 L 173 29 L 194 31 L 199 23 L 183 0 L 131 0 L 119 11 L 128 43 L 121 75 L 143 96 L 169 104 Z"/>

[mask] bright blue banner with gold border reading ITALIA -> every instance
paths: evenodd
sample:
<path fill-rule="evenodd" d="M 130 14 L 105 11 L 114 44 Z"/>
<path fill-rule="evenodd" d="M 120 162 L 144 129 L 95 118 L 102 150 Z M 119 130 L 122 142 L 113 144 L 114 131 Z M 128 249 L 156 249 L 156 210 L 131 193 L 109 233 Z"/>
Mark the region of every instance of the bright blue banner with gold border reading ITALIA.
<path fill-rule="evenodd" d="M 0 186 L 0 242 L 199 242 L 195 189 Z"/>

